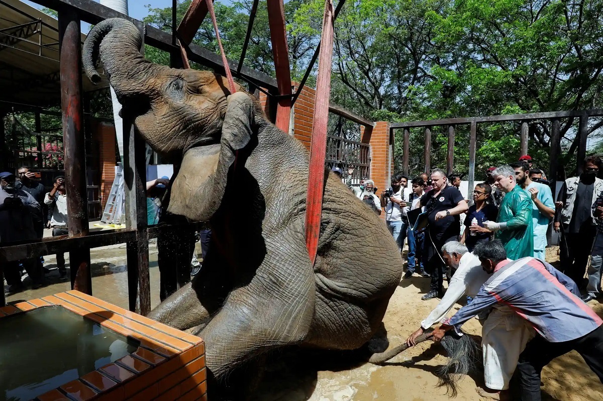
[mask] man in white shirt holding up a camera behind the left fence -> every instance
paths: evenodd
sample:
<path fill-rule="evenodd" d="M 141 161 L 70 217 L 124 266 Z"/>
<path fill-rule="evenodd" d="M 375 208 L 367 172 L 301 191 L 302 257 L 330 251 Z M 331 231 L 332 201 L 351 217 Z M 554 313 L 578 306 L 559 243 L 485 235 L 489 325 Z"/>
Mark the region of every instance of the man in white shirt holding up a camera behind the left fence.
<path fill-rule="evenodd" d="M 44 203 L 48 205 L 48 228 L 52 229 L 52 236 L 69 235 L 67 230 L 67 192 L 63 175 L 54 178 L 54 186 L 44 197 Z M 57 267 L 59 279 L 67 280 L 65 254 L 57 253 Z"/>

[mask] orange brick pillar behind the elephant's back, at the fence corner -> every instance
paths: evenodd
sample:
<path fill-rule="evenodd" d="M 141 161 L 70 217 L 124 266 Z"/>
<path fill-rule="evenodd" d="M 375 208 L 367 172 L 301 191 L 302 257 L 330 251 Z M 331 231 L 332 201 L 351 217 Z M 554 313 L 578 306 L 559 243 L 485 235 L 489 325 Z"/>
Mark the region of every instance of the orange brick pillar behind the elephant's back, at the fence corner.
<path fill-rule="evenodd" d="M 371 147 L 370 179 L 375 182 L 377 195 L 390 188 L 390 177 L 393 174 L 393 135 L 390 135 L 390 123 L 377 121 L 373 128 L 361 127 L 362 142 Z M 385 214 L 381 213 L 385 219 Z"/>

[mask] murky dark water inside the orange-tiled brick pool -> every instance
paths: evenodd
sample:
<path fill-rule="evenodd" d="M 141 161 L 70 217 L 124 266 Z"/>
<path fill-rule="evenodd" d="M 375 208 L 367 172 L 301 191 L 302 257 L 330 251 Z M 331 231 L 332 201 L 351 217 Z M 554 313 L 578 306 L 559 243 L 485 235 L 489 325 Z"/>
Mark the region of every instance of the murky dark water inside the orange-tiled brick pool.
<path fill-rule="evenodd" d="M 31 400 L 138 345 L 60 306 L 1 318 L 0 401 Z"/>

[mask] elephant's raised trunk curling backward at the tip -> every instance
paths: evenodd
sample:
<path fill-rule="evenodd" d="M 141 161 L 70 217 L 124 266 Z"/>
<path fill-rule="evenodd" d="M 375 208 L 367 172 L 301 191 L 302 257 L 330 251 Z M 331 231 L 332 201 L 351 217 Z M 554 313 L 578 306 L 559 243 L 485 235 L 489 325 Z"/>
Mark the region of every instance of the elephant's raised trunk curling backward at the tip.
<path fill-rule="evenodd" d="M 140 83 L 154 66 L 140 54 L 142 37 L 134 24 L 122 18 L 110 18 L 96 24 L 86 37 L 82 65 L 90 81 L 101 80 L 96 72 L 100 58 L 120 103 L 124 96 L 140 93 Z M 124 68 L 127 66 L 127 68 Z M 123 103 L 122 103 L 123 104 Z"/>

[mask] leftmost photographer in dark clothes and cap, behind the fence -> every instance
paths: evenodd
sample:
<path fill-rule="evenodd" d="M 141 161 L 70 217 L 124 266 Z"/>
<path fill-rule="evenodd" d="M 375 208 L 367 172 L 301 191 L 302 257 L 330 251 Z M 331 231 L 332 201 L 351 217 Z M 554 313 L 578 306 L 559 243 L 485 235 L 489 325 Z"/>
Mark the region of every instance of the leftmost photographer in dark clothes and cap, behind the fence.
<path fill-rule="evenodd" d="M 10 172 L 0 173 L 0 243 L 25 241 L 36 238 L 34 221 L 41 219 L 40 204 L 27 192 L 17 189 L 16 177 Z M 42 270 L 35 260 L 19 260 L 4 264 L 8 283 L 7 294 L 23 290 L 19 262 L 29 274 L 34 289 L 42 286 Z"/>

